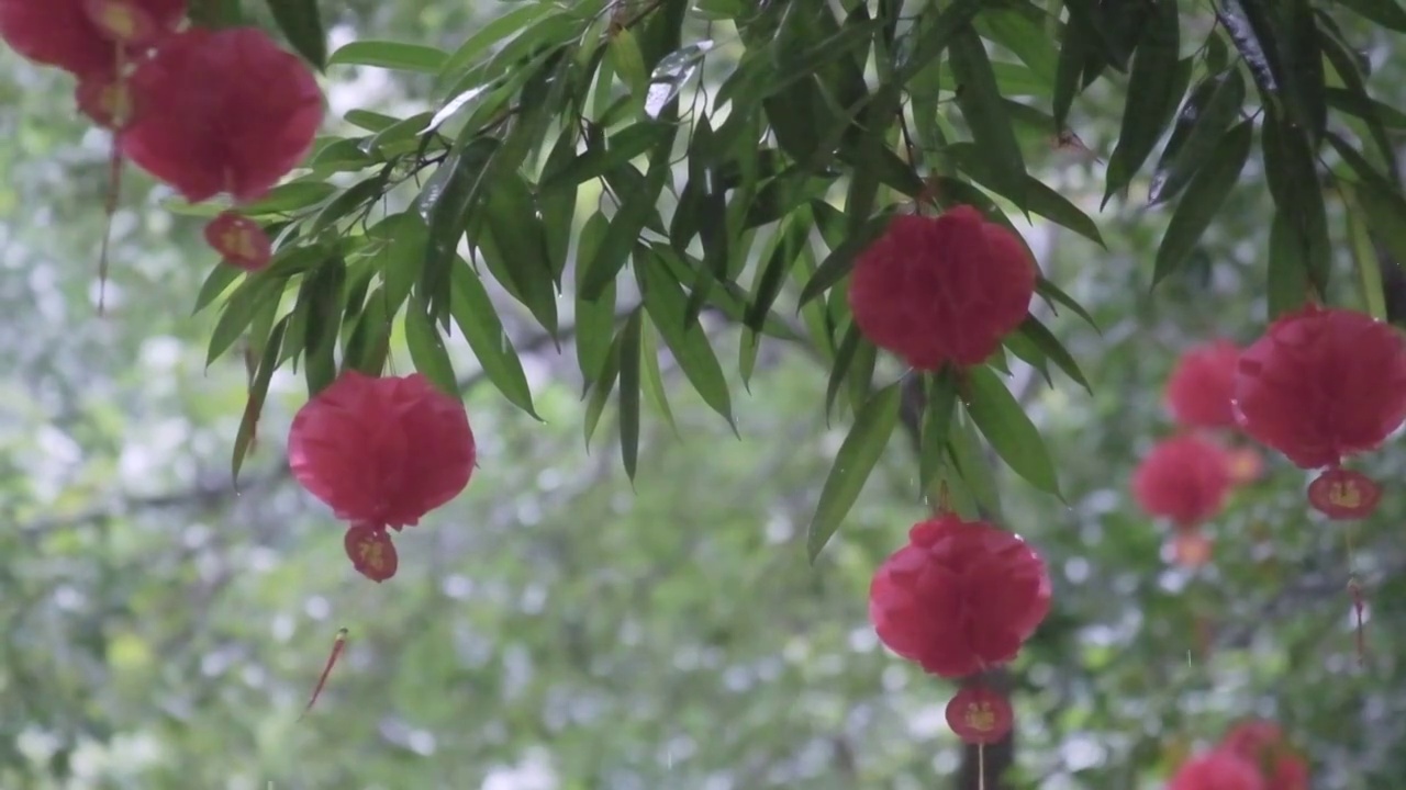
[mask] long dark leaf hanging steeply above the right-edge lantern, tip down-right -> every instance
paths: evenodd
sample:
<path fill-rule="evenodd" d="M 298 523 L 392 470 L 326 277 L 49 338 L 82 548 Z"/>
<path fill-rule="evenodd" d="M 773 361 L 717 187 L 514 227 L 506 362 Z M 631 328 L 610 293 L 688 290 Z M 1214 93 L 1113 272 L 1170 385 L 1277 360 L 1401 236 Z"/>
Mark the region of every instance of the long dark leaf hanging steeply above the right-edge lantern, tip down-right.
<path fill-rule="evenodd" d="M 1260 149 L 1274 205 L 1288 214 L 1309 280 L 1319 294 L 1326 294 L 1331 247 L 1317 157 L 1301 127 L 1274 117 L 1265 117 L 1260 127 Z"/>

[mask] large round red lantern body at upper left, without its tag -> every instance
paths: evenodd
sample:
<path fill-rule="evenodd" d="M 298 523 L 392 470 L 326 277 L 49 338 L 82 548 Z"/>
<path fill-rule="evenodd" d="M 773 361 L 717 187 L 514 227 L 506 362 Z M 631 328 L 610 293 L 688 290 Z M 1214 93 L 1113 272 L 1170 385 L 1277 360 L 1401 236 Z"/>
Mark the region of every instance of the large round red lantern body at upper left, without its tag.
<path fill-rule="evenodd" d="M 297 167 L 322 124 L 318 82 L 259 28 L 191 28 L 132 76 L 141 110 L 122 153 L 200 202 L 262 197 Z"/>

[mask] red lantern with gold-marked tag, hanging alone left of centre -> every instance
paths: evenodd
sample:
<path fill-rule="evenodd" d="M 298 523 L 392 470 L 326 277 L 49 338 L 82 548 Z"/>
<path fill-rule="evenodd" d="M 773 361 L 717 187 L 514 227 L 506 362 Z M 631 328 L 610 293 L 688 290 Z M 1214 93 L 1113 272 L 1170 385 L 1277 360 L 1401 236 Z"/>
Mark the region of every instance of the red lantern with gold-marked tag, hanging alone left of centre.
<path fill-rule="evenodd" d="M 292 477 L 352 523 L 347 555 L 375 581 L 396 566 L 385 530 L 418 524 L 458 496 L 474 461 L 464 403 L 420 374 L 349 370 L 298 410 L 288 432 Z"/>

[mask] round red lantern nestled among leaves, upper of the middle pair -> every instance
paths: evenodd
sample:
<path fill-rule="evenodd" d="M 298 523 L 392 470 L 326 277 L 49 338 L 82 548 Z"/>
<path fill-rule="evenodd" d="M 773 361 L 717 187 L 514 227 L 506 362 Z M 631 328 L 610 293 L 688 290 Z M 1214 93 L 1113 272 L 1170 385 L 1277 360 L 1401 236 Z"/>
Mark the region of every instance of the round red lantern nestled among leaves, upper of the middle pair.
<path fill-rule="evenodd" d="M 1038 270 L 1021 240 L 969 205 L 894 216 L 849 283 L 855 325 L 918 370 L 981 364 L 1025 320 Z"/>

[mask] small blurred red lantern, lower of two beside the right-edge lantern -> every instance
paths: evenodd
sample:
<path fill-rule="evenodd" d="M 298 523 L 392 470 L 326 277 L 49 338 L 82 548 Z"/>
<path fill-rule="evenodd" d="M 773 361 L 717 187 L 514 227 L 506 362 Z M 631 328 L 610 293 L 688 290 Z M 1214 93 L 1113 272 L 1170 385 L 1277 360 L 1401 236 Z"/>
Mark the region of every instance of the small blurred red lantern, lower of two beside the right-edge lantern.
<path fill-rule="evenodd" d="M 1132 488 L 1149 516 L 1192 527 L 1225 507 L 1230 492 L 1229 458 L 1223 447 L 1199 436 L 1167 439 L 1137 465 Z"/>

